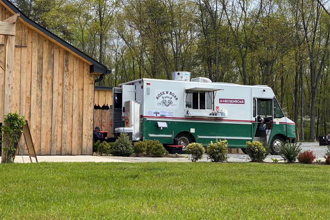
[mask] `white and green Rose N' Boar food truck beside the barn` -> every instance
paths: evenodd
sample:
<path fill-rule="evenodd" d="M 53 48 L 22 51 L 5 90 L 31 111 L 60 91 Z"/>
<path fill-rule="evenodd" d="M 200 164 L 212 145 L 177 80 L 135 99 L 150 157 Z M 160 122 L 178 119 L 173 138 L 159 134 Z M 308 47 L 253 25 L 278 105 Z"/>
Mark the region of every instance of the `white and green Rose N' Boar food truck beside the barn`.
<path fill-rule="evenodd" d="M 294 141 L 295 123 L 284 116 L 272 89 L 265 85 L 190 80 L 189 72 L 173 72 L 173 80 L 138 79 L 113 89 L 110 124 L 133 128 L 133 141 L 159 140 L 183 150 L 191 142 L 207 146 L 226 139 L 228 147 L 247 141 L 268 144 L 273 154 L 281 141 Z"/>

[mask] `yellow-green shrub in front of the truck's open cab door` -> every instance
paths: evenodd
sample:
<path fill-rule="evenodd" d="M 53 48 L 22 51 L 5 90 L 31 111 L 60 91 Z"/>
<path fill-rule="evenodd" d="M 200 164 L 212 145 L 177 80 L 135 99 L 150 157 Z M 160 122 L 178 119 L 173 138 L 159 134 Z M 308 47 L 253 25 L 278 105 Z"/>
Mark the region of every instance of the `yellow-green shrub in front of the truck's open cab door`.
<path fill-rule="evenodd" d="M 252 141 L 247 142 L 245 151 L 247 152 L 252 162 L 262 162 L 271 152 L 271 149 L 269 147 L 264 147 L 259 141 Z"/>

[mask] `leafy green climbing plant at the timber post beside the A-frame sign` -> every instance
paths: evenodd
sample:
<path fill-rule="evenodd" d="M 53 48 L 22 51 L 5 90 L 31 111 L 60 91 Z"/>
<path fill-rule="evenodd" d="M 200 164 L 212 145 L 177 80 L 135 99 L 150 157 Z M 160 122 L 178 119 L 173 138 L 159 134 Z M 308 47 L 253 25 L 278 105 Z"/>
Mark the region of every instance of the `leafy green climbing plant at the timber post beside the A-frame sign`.
<path fill-rule="evenodd" d="M 25 117 L 20 116 L 17 111 L 5 115 L 4 124 L 1 126 L 1 131 L 3 132 L 1 138 L 2 149 L 6 157 L 5 159 L 2 158 L 4 163 L 14 162 L 16 153 L 14 144 L 17 142 L 19 135 L 23 133 L 22 128 L 25 124 Z"/>

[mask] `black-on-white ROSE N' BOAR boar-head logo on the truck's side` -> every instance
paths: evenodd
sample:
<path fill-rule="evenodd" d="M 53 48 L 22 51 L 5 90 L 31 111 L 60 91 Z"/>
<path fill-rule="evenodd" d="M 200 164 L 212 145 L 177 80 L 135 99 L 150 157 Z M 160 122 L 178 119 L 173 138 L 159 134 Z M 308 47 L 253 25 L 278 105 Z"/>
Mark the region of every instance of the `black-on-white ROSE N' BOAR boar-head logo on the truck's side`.
<path fill-rule="evenodd" d="M 168 108 L 178 108 L 179 97 L 176 94 L 179 94 L 179 91 L 168 91 L 155 89 L 156 101 L 155 106 L 159 107 L 168 107 Z"/>

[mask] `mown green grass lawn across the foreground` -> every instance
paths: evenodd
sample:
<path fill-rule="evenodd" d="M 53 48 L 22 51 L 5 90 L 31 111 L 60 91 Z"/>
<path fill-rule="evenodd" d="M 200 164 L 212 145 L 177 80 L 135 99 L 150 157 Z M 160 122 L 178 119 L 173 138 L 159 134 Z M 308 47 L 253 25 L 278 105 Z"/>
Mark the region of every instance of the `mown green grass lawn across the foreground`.
<path fill-rule="evenodd" d="M 303 164 L 3 164 L 0 219 L 329 219 L 329 176 Z"/>

